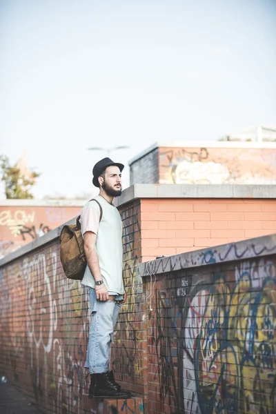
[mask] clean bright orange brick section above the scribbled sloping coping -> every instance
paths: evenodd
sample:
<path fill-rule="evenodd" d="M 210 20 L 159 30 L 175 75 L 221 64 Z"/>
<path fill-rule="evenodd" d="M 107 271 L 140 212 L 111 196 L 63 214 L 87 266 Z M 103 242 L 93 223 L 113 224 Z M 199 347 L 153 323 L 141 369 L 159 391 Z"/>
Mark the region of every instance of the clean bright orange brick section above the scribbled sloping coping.
<path fill-rule="evenodd" d="M 275 233 L 276 199 L 142 199 L 143 262 Z"/>

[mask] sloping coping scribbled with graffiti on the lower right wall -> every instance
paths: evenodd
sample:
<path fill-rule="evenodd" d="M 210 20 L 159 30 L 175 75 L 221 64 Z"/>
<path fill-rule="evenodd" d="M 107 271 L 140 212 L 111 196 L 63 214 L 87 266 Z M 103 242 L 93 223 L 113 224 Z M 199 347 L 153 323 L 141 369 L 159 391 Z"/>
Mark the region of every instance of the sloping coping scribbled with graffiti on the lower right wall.
<path fill-rule="evenodd" d="M 215 263 L 233 262 L 233 260 L 250 259 L 273 253 L 276 253 L 276 234 L 193 250 L 174 256 L 164 256 L 150 262 L 141 263 L 140 274 L 142 277 L 155 276 L 158 273 Z"/>

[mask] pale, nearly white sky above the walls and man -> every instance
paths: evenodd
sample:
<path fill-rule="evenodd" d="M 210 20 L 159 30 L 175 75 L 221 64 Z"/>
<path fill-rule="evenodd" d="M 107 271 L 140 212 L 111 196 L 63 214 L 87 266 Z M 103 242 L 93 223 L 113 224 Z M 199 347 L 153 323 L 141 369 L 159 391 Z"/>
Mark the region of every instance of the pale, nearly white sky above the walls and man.
<path fill-rule="evenodd" d="M 276 124 L 276 0 L 0 0 L 0 154 L 95 195 L 106 152 Z M 3 191 L 2 191 L 3 193 Z M 4 195 L 1 195 L 4 198 Z"/>

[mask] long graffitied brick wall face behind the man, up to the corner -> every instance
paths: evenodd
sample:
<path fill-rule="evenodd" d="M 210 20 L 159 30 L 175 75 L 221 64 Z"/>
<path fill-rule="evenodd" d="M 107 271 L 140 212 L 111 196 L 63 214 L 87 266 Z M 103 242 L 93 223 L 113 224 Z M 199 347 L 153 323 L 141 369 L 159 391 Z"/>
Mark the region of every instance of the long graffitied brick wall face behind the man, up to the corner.
<path fill-rule="evenodd" d="M 145 300 L 139 262 L 139 201 L 121 211 L 124 223 L 122 306 L 111 363 L 117 380 L 135 395 L 146 393 Z M 43 413 L 143 412 L 140 400 L 88 400 L 90 378 L 83 368 L 89 332 L 88 297 L 79 282 L 66 279 L 57 239 L 0 268 L 0 373 L 26 393 Z M 118 405 L 119 404 L 119 405 Z M 128 408 L 127 408 L 128 407 Z"/>

